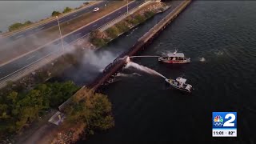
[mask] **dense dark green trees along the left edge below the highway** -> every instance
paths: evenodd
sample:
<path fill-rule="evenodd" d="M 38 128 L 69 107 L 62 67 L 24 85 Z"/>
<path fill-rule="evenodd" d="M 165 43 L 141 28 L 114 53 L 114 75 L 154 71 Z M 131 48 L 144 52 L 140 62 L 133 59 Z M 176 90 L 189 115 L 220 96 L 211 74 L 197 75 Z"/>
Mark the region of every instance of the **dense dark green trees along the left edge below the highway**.
<path fill-rule="evenodd" d="M 0 135 L 19 132 L 34 122 L 38 117 L 59 106 L 78 90 L 73 82 L 46 83 L 33 90 L 10 91 L 0 98 Z"/>

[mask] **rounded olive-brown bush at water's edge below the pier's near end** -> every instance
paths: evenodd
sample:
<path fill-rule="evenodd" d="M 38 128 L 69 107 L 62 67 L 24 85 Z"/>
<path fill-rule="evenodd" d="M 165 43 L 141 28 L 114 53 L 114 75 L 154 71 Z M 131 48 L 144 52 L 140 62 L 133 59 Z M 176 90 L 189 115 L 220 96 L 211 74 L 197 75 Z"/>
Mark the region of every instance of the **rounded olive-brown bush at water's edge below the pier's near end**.
<path fill-rule="evenodd" d="M 66 109 L 67 122 L 85 123 L 87 132 L 92 130 L 107 130 L 114 126 L 111 115 L 111 103 L 104 94 L 94 94 L 86 90 L 83 98 L 74 98 L 75 104 Z"/>

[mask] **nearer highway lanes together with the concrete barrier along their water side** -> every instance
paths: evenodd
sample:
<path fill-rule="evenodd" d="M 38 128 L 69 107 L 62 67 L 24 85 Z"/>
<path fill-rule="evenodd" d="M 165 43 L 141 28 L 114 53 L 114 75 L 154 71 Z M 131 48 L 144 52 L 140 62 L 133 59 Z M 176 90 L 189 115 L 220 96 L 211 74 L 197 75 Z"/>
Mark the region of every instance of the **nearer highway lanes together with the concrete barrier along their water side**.
<path fill-rule="evenodd" d="M 144 1 L 130 2 L 129 7 L 133 9 L 134 7 L 140 6 Z M 98 29 L 104 26 L 106 23 L 111 22 L 114 18 L 118 18 L 120 15 L 126 13 L 126 6 L 115 10 L 111 14 L 105 17 L 91 22 L 87 26 L 75 30 L 70 34 L 63 36 L 64 48 L 65 50 L 72 50 L 72 44 L 78 39 L 86 37 L 90 34 L 91 30 Z M 38 66 L 38 62 L 42 62 L 45 59 L 56 58 L 59 53 L 62 52 L 61 39 L 58 38 L 51 43 L 46 44 L 46 46 L 40 46 L 38 49 L 30 51 L 29 54 L 21 55 L 20 57 L 14 59 L 11 62 L 4 63 L 0 66 L 0 87 L 6 86 L 7 81 L 14 81 L 18 78 L 22 78 L 26 74 L 30 74 L 34 69 L 30 67 Z"/>

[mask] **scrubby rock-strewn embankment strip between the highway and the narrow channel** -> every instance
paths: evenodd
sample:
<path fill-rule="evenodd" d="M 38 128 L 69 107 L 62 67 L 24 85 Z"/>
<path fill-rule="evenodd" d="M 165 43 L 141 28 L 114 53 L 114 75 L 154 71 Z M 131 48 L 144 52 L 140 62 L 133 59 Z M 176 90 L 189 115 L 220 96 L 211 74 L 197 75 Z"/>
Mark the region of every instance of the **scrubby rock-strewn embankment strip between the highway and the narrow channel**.
<path fill-rule="evenodd" d="M 158 5 L 158 6 L 155 6 Z M 114 24 L 114 26 L 110 26 L 105 31 L 94 30 L 90 34 L 90 42 L 97 47 L 106 46 L 108 42 L 113 40 L 114 38 L 118 38 L 123 33 L 126 33 L 134 26 L 138 26 L 139 24 L 145 22 L 147 19 L 153 17 L 157 12 L 164 10 L 164 3 L 153 3 L 150 6 L 145 6 L 142 10 L 138 10 L 136 13 L 131 14 L 127 18 L 124 18 L 121 22 Z"/>

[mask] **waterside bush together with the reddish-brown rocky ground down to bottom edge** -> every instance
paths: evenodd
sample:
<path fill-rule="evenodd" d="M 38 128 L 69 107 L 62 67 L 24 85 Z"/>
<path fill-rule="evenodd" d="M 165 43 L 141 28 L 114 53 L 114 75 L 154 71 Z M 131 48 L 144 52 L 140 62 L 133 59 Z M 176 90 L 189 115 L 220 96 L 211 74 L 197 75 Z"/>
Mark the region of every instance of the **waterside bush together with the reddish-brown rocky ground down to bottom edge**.
<path fill-rule="evenodd" d="M 51 143 L 76 142 L 81 134 L 94 134 L 94 131 L 108 130 L 114 126 L 111 114 L 111 103 L 104 94 L 94 94 L 93 91 L 81 89 L 72 99 L 72 105 L 66 107 L 66 119 L 58 134 L 65 137 L 55 137 Z M 84 136 L 83 136 L 84 137 Z"/>

